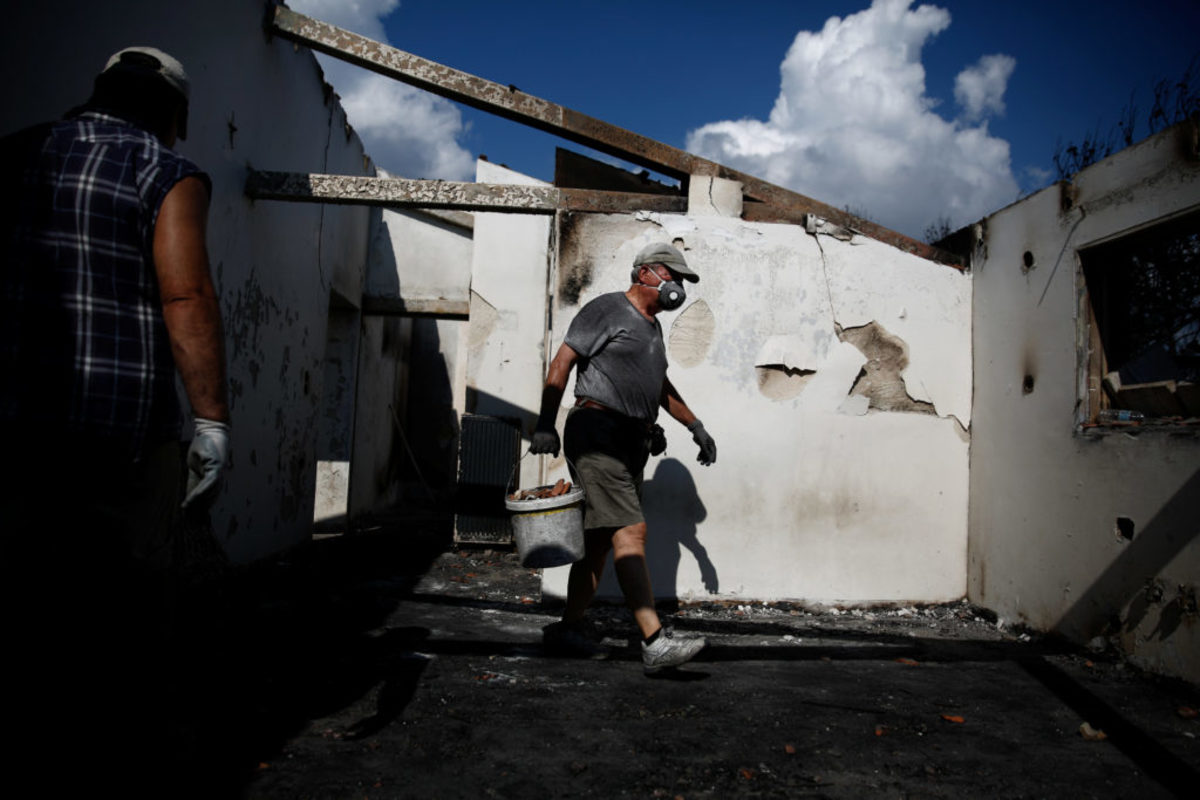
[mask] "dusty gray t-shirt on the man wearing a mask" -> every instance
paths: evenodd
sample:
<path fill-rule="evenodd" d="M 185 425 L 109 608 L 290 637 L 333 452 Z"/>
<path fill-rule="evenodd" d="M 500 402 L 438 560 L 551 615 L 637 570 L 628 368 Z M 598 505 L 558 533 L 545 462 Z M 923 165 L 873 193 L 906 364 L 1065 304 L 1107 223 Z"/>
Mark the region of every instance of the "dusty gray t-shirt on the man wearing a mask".
<path fill-rule="evenodd" d="M 563 341 L 580 355 L 576 397 L 647 422 L 658 419 L 667 375 L 659 320 L 646 319 L 623 291 L 613 291 L 583 306 Z"/>

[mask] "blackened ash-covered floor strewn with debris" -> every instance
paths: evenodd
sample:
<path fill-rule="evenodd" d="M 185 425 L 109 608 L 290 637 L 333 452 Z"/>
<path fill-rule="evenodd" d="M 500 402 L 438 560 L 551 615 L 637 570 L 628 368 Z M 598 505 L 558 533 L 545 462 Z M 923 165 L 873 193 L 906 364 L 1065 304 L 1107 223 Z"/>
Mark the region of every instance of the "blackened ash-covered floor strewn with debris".
<path fill-rule="evenodd" d="M 539 576 L 384 527 L 192 597 L 180 790 L 247 798 L 1194 796 L 1196 687 L 965 603 L 664 608 L 709 646 L 547 657 Z M 215 613 L 214 609 L 220 609 Z"/>

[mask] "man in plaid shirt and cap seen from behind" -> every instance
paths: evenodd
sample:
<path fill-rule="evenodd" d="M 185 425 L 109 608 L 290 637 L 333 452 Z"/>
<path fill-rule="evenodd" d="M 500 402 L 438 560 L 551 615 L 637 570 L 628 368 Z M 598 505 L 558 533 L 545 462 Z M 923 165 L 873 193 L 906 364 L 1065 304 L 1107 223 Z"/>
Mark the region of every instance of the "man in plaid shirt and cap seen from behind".
<path fill-rule="evenodd" d="M 0 425 L 19 465 L 0 486 L 0 579 L 29 645 L 16 684 L 29 693 L 86 652 L 103 688 L 48 691 L 131 726 L 164 700 L 149 687 L 167 685 L 180 509 L 208 507 L 228 457 L 210 182 L 170 149 L 188 94 L 179 61 L 127 48 L 83 107 L 0 143 Z M 176 373 L 196 419 L 186 467 Z"/>

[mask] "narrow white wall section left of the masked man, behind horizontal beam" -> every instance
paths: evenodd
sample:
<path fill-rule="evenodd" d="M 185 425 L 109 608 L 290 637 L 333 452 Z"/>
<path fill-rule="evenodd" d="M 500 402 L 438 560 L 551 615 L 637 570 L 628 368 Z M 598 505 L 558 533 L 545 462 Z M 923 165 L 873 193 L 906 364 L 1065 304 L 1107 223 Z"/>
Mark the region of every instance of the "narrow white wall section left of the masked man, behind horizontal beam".
<path fill-rule="evenodd" d="M 542 181 L 479 161 L 480 184 L 544 186 Z M 546 375 L 546 305 L 550 275 L 547 216 L 476 213 L 467 343 L 467 410 L 511 416 L 533 433 Z M 518 485 L 541 480 L 538 458 L 522 458 Z"/>

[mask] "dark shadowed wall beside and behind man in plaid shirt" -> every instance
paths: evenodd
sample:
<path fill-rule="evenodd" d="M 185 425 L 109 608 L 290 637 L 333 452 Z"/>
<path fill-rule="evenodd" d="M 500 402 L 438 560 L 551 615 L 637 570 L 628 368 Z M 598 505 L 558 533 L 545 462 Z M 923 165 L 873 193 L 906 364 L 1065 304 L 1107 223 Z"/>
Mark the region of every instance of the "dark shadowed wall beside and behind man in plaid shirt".
<path fill-rule="evenodd" d="M 358 138 L 311 53 L 263 32 L 257 0 L 18 4 L 0 32 L 0 133 L 83 102 L 107 58 L 154 44 L 192 79 L 179 150 L 212 178 L 209 254 L 221 294 L 233 464 L 212 510 L 236 561 L 311 533 L 330 291 L 359 296 L 367 211 L 250 201 L 246 168 L 364 174 Z"/>

